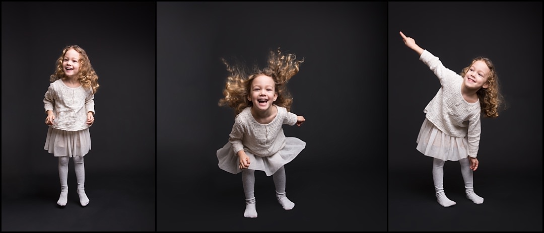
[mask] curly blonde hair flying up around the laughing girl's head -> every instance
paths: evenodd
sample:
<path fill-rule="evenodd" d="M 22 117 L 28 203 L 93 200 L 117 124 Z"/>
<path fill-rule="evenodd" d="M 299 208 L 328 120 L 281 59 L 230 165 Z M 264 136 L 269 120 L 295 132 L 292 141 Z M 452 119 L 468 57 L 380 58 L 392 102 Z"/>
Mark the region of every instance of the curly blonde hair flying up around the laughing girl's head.
<path fill-rule="evenodd" d="M 304 59 L 296 60 L 296 55 L 283 54 L 281 49 L 278 48 L 276 52 L 270 51 L 267 67 L 259 69 L 254 66 L 249 75 L 247 75 L 248 70 L 245 66 L 240 64 L 231 66 L 225 59 L 221 60 L 230 74 L 223 90 L 225 97 L 219 100 L 219 106 L 228 105 L 234 109 L 235 115 L 242 112 L 246 107 L 252 106 L 252 102 L 247 98 L 250 95 L 251 82 L 260 75 L 267 75 L 274 80 L 274 90 L 277 93 L 274 104 L 290 111 L 293 97 L 287 90 L 286 84 L 289 79 L 299 72 L 299 65 L 304 62 Z"/>

